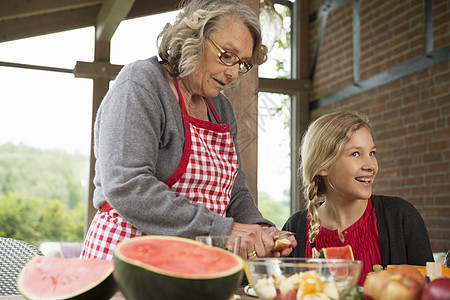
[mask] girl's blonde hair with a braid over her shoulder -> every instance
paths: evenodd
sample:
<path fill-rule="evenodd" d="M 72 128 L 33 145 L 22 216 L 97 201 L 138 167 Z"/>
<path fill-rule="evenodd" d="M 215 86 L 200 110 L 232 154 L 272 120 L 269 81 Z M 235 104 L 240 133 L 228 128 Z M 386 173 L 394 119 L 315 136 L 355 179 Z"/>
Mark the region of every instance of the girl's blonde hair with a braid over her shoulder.
<path fill-rule="evenodd" d="M 351 111 L 339 111 L 326 114 L 312 122 L 303 136 L 300 172 L 307 208 L 311 214 L 311 244 L 314 243 L 321 226 L 318 214 L 319 199 L 326 194 L 325 183 L 318 173 L 333 164 L 351 134 L 363 127 L 373 136 L 366 116 Z"/>

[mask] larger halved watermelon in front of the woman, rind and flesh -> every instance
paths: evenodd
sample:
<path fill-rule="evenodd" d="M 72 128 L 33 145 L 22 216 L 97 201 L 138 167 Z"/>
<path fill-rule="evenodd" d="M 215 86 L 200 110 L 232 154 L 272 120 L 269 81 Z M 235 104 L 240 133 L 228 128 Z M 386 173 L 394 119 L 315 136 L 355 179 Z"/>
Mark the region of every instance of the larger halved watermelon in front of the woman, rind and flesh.
<path fill-rule="evenodd" d="M 226 250 L 180 237 L 141 236 L 119 243 L 114 278 L 127 299 L 228 299 L 244 261 Z"/>

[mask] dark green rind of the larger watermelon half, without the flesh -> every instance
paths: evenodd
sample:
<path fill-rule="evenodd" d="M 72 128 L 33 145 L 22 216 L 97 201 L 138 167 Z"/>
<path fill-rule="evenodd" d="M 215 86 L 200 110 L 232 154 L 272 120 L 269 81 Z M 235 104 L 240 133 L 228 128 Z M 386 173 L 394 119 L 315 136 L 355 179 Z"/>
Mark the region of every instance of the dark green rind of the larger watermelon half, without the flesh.
<path fill-rule="evenodd" d="M 149 236 L 138 237 L 149 238 Z M 152 236 L 151 238 L 181 239 L 188 243 L 195 243 L 201 247 L 208 247 L 200 242 L 168 236 Z M 133 238 L 137 239 L 137 238 Z M 122 243 L 132 242 L 131 239 Z M 235 256 L 239 262 L 236 267 L 227 272 L 215 275 L 192 276 L 174 274 L 146 265 L 140 261 L 123 257 L 120 244 L 114 253 L 114 279 L 127 299 L 136 300 L 191 300 L 191 299 L 229 299 L 239 287 L 244 276 L 244 261 L 225 250 L 217 248 L 227 255 Z"/>

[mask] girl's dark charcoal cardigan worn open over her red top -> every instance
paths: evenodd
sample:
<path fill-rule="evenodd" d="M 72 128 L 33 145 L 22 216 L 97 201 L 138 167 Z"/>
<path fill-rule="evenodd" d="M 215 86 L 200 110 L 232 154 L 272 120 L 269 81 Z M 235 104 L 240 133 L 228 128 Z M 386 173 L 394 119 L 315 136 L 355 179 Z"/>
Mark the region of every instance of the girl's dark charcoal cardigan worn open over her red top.
<path fill-rule="evenodd" d="M 434 261 L 427 228 L 417 209 L 398 197 L 372 195 L 371 198 L 377 217 L 383 266 L 425 266 Z M 283 230 L 296 233 L 298 246 L 291 253 L 294 257 L 305 257 L 306 213 L 306 209 L 296 212 L 283 226 Z"/>

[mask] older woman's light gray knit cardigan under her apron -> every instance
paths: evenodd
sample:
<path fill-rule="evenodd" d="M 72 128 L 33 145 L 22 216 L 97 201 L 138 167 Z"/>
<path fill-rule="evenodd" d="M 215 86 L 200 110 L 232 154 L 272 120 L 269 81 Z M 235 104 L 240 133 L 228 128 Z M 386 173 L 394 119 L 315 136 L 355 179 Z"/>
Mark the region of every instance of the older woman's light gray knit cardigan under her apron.
<path fill-rule="evenodd" d="M 210 99 L 237 149 L 236 119 L 222 94 Z M 215 120 L 211 111 L 210 119 Z M 217 120 L 215 120 L 217 122 Z M 147 234 L 226 235 L 232 222 L 269 224 L 239 170 L 226 217 L 176 196 L 164 184 L 180 164 L 183 117 L 156 57 L 125 66 L 105 96 L 94 127 L 94 206 L 105 202 Z M 238 152 L 239 165 L 241 165 Z"/>

